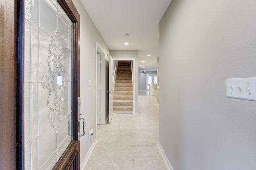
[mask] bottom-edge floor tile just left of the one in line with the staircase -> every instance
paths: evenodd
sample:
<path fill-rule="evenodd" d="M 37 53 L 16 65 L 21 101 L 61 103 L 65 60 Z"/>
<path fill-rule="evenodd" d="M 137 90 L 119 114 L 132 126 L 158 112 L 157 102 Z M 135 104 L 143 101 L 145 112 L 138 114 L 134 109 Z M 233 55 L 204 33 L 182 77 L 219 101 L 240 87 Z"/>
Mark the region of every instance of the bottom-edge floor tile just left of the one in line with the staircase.
<path fill-rule="evenodd" d="M 113 170 L 114 161 L 114 156 L 98 156 L 93 170 Z"/>

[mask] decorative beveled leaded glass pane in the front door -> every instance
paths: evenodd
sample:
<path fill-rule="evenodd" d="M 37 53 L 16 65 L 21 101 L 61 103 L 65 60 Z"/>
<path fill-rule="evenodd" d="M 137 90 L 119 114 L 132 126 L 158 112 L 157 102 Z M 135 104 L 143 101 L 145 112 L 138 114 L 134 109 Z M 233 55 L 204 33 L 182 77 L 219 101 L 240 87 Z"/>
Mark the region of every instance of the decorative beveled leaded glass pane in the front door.
<path fill-rule="evenodd" d="M 45 170 L 72 140 L 73 23 L 56 0 L 25 4 L 25 167 Z"/>

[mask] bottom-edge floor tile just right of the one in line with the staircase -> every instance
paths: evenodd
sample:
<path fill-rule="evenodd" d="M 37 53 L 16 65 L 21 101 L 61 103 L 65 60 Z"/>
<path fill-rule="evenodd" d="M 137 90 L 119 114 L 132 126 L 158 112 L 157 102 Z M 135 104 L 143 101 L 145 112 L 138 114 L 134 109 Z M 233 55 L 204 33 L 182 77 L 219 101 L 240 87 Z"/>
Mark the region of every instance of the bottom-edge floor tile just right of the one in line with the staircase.
<path fill-rule="evenodd" d="M 134 156 L 134 170 L 154 170 L 154 164 L 150 156 Z"/>

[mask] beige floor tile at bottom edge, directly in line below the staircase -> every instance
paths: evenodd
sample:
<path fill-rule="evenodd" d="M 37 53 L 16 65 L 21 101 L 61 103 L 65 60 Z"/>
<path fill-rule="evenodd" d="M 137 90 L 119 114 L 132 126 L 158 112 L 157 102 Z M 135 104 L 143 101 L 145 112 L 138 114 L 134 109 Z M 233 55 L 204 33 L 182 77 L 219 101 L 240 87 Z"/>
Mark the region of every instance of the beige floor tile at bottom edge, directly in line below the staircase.
<path fill-rule="evenodd" d="M 134 170 L 132 156 L 116 156 L 114 170 Z"/>

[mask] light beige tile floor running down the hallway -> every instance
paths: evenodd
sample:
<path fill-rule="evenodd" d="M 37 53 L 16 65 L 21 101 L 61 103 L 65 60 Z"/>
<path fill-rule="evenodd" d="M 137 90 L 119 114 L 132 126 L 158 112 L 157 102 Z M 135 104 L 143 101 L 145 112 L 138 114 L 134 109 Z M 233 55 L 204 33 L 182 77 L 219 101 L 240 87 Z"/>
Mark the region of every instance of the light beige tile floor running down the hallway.
<path fill-rule="evenodd" d="M 85 170 L 168 170 L 158 150 L 156 100 L 139 92 L 139 115 L 113 115 L 98 128 L 97 144 Z"/>

